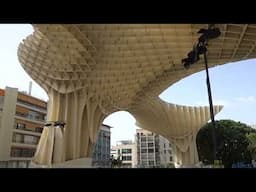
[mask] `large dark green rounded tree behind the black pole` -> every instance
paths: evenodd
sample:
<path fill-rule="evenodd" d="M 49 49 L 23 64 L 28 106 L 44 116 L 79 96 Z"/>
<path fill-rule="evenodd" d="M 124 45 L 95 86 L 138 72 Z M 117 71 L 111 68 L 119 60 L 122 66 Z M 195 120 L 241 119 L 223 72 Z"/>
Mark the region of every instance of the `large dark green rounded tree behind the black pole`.
<path fill-rule="evenodd" d="M 222 160 L 225 167 L 237 162 L 250 163 L 250 141 L 247 135 L 255 133 L 255 130 L 232 120 L 220 120 L 215 124 L 216 158 Z M 196 138 L 199 159 L 205 164 L 213 164 L 212 128 L 212 123 L 206 124 Z"/>

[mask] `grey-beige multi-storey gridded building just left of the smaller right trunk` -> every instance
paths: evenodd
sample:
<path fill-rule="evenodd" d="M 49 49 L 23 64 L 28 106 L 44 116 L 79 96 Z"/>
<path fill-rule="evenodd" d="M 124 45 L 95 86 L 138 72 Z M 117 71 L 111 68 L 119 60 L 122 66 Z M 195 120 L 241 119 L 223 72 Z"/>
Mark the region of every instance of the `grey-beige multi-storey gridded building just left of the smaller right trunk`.
<path fill-rule="evenodd" d="M 144 129 L 136 130 L 138 168 L 169 167 L 173 163 L 169 141 Z"/>

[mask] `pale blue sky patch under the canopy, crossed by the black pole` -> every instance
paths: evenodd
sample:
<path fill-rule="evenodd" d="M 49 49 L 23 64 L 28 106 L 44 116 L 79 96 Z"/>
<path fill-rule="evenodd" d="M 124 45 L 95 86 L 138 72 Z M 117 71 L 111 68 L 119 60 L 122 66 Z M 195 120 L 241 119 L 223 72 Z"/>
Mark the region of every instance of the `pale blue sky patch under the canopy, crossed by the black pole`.
<path fill-rule="evenodd" d="M 216 119 L 256 122 L 256 60 L 229 63 L 209 70 L 213 104 L 224 105 Z M 208 105 L 205 71 L 174 84 L 161 95 L 165 101 L 185 105 Z"/>

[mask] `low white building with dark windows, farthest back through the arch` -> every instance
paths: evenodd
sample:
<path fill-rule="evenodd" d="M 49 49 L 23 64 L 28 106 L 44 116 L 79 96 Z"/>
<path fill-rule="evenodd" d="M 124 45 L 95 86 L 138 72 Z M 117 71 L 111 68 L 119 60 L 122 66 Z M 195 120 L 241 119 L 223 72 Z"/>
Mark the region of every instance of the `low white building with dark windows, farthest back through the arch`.
<path fill-rule="evenodd" d="M 111 148 L 111 156 L 122 161 L 122 168 L 135 168 L 137 164 L 136 144 L 131 140 L 117 142 Z"/>

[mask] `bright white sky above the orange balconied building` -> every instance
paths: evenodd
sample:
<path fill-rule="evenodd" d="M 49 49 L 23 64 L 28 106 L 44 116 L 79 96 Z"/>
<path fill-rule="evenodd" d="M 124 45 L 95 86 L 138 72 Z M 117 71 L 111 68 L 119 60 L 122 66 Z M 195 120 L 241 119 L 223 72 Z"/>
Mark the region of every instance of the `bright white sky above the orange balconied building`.
<path fill-rule="evenodd" d="M 19 91 L 28 91 L 29 81 L 32 81 L 32 95 L 48 100 L 45 91 L 30 78 L 18 61 L 18 45 L 32 32 L 31 25 L 0 24 L 0 88 L 9 86 L 17 87 Z"/>

